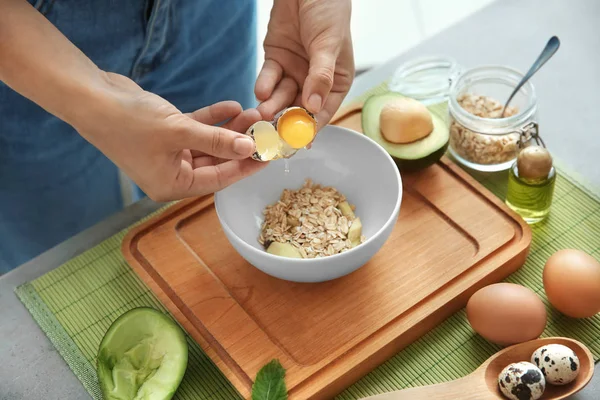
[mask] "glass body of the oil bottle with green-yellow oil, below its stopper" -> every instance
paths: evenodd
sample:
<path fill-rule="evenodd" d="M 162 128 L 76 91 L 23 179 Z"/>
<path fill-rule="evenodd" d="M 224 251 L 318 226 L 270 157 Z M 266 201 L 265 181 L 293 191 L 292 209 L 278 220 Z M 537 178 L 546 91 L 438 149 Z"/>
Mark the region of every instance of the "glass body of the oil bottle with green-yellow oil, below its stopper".
<path fill-rule="evenodd" d="M 519 176 L 519 169 L 515 162 L 508 171 L 506 205 L 528 224 L 538 223 L 550 212 L 555 182 L 556 169 L 554 166 L 550 168 L 546 177 L 528 179 Z"/>

